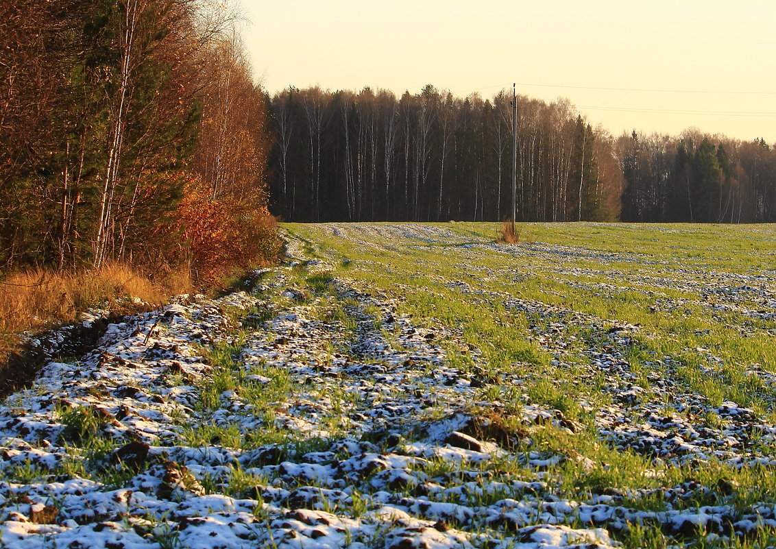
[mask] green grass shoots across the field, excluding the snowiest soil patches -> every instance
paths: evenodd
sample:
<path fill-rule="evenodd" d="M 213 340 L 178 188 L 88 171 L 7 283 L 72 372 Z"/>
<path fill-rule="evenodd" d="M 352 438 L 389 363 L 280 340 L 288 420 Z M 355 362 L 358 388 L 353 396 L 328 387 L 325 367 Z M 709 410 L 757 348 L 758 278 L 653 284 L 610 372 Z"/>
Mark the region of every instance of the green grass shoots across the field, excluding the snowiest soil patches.
<path fill-rule="evenodd" d="M 490 461 L 464 464 L 473 475 L 467 478 L 460 475 L 462 465 L 455 461 L 433 457 L 413 461 L 408 468 L 416 478 L 444 487 L 429 499 L 489 506 L 505 498 L 585 501 L 593 495 L 619 493 L 626 495 L 618 505 L 648 512 L 725 504 L 743 513 L 757 502 L 774 504 L 776 475 L 771 466 L 736 468 L 713 459 L 670 464 L 623 451 L 599 436 L 596 413 L 615 404 L 608 385 L 627 381 L 645 389 L 639 402 L 660 405 L 667 415 L 687 416 L 690 411 L 679 411 L 670 394 L 661 394 L 653 386 L 650 380 L 658 375 L 675 382 L 677 391 L 700 395 L 709 406 L 734 401 L 776 421 L 776 387 L 747 373 L 755 365 L 776 373 L 776 320 L 747 315 L 764 304 L 760 287 L 750 282 L 757 278 L 745 278 L 762 275 L 763 284 L 774 290 L 776 227 L 528 223 L 521 243 L 497 245 L 496 223 L 431 224 L 432 229 L 447 231 L 442 241 L 380 237 L 370 233 L 374 226 L 341 225 L 353 240 L 335 237 L 325 225 L 282 226 L 289 237 L 299 240 L 303 257 L 262 281 L 282 280 L 280 288 L 294 288 L 301 299 L 262 294 L 252 309 L 227 311 L 231 323 L 238 326 L 230 342 L 202 349 L 212 373 L 191 380 L 170 376 L 171 385 L 188 382 L 199 395 L 193 415 L 179 418 L 175 444 L 243 451 L 275 445 L 276 460 L 293 460 L 327 450 L 332 440 L 360 437 L 388 451 L 389 430 L 354 433 L 352 412 L 399 400 L 404 387 L 359 393 L 338 385 L 336 379 L 297 378 L 282 364 L 249 359 L 243 352 L 251 338 L 262 337 L 262 325 L 276 312 L 296 307 L 304 316 L 327 324 L 329 336 L 318 342 L 320 355 L 300 354 L 303 367 L 326 370 L 335 354 L 352 353 L 350 346 L 364 329 L 376 330 L 393 347 L 400 347 L 398 329 L 382 322 L 386 309 L 341 294 L 341 288 L 352 285 L 372 295 L 385 292 L 396 306 L 393 314 L 409 316 L 414 326 L 452 334 L 434 339 L 445 350 L 445 368 L 478 381 L 460 409 L 490 420 L 494 428 L 478 437 L 498 439 L 508 450 Z M 370 245 L 356 244 L 355 239 Z M 250 285 L 241 288 L 251 289 Z M 624 323 L 639 327 L 626 332 L 629 339 L 618 342 L 620 336 L 609 330 Z M 591 350 L 621 357 L 632 376 L 594 370 Z M 376 361 L 357 358 L 365 364 Z M 422 380 L 435 375 L 434 364 L 425 366 L 415 389 L 418 393 L 424 393 Z M 251 428 L 218 420 L 215 412 L 235 396 L 248 405 L 244 413 L 253 422 Z M 320 407 L 310 406 L 320 431 L 300 433 L 279 420 L 288 406 L 303 401 L 320 403 Z M 560 414 L 555 419 L 566 423 L 528 425 L 523 419 L 525 406 L 557 410 Z M 85 408 L 55 413 L 65 427 L 64 439 L 74 445 L 74 458 L 57 471 L 29 463 L 5 467 L 3 479 L 33 482 L 66 474 L 92 475 L 109 486 L 126 483 L 128 471 L 111 473 L 104 466 L 123 441 L 106 436 L 105 418 L 99 412 Z M 406 426 L 402 444 L 412 444 L 424 440 L 428 423 L 449 413 L 449 407 L 432 402 L 406 425 L 390 428 Z M 694 421 L 696 426 L 712 428 L 729 422 L 713 409 Z M 771 458 L 776 455 L 774 444 L 757 430 L 750 437 L 761 438 L 753 449 Z M 538 470 L 530 464 L 532 455 L 552 459 Z M 347 457 L 338 454 L 331 461 Z M 243 497 L 257 485 L 279 484 L 279 478 L 265 478 L 258 469 L 245 467 L 231 464 L 199 480 L 209 493 L 235 497 Z M 324 509 L 360 516 L 378 506 L 372 496 L 379 488 L 369 483 L 376 474 L 348 486 L 349 503 L 324 501 Z M 539 479 L 543 488 L 536 492 L 510 484 Z M 668 504 L 661 489 L 688 480 L 724 489 L 715 495 L 698 491 Z M 394 492 L 396 497 L 414 497 L 415 488 L 410 484 Z M 462 496 L 455 489 L 465 493 Z M 474 532 L 487 526 L 475 520 L 466 528 Z M 383 542 L 380 535 L 378 531 L 371 541 Z M 612 535 L 623 547 L 677 544 L 667 533 L 636 523 Z M 158 530 L 156 540 L 169 547 L 178 543 L 164 528 Z M 724 543 L 703 536 L 679 542 L 687 547 L 766 547 L 773 544 L 774 532 L 764 529 L 755 537 Z"/>

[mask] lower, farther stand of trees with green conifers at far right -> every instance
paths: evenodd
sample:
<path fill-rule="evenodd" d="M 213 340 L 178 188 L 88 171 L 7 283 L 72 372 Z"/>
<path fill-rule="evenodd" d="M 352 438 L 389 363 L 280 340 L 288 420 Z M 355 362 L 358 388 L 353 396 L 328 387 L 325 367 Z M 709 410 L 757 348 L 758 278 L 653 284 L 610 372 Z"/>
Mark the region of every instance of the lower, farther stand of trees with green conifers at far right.
<path fill-rule="evenodd" d="M 686 130 L 617 143 L 623 221 L 776 223 L 776 148 Z"/>

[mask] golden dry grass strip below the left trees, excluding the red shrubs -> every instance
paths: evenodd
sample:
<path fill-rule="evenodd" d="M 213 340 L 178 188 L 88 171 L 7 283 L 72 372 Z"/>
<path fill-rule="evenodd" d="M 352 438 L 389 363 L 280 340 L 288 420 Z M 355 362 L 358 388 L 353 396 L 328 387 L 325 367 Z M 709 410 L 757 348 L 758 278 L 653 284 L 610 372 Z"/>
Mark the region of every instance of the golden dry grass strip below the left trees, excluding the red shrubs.
<path fill-rule="evenodd" d="M 190 292 L 188 271 L 151 278 L 125 264 L 59 274 L 24 271 L 0 280 L 0 362 L 18 345 L 15 334 L 72 322 L 89 307 L 109 303 L 112 312 L 137 310 L 131 298 L 158 304 L 168 295 Z M 127 299 L 130 298 L 130 299 Z"/>

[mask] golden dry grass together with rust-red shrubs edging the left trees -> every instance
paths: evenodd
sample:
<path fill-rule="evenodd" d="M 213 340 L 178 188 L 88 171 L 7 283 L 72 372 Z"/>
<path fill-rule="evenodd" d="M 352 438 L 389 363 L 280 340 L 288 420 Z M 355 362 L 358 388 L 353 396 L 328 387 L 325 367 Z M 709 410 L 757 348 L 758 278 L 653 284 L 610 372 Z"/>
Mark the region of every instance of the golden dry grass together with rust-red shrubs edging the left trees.
<path fill-rule="evenodd" d="M 186 253 L 167 257 L 162 261 L 162 271 L 110 263 L 75 273 L 44 269 L 7 276 L 0 273 L 0 364 L 10 351 L 18 349 L 16 334 L 20 332 L 47 330 L 73 322 L 81 312 L 102 303 L 109 303 L 112 313 L 123 314 L 137 312 L 131 298 L 158 305 L 169 295 L 190 293 L 194 288 L 227 288 L 235 273 L 243 274 L 255 265 L 279 261 L 282 247 L 272 216 L 258 210 L 241 216 L 239 224 L 223 208 L 217 212 L 223 214 L 217 225 L 223 230 L 213 233 L 212 223 L 205 223 L 210 230 L 189 227 Z M 207 216 L 203 208 L 192 212 L 192 217 L 199 221 Z M 166 230 L 175 227 L 168 226 Z"/>

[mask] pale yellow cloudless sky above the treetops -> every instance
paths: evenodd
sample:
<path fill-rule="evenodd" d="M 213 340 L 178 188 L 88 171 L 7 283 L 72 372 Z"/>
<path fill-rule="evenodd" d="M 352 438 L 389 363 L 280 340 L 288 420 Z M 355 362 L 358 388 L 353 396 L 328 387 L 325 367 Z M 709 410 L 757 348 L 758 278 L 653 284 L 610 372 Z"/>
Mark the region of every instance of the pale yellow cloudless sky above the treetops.
<path fill-rule="evenodd" d="M 773 0 L 241 0 L 258 79 L 568 98 L 611 133 L 776 143 Z"/>

